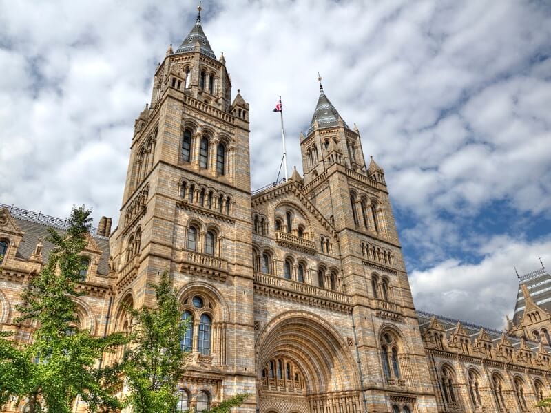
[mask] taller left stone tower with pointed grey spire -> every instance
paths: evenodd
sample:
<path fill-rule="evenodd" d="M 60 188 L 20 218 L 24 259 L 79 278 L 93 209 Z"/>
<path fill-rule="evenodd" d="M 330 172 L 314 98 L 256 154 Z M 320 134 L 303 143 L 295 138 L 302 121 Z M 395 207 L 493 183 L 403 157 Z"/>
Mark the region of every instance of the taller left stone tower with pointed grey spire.
<path fill-rule="evenodd" d="M 170 46 L 155 70 L 110 237 L 110 328 L 132 328 L 125 304 L 155 304 L 149 283 L 163 271 L 183 319 L 192 320 L 183 338 L 191 361 L 182 408 L 200 411 L 254 387 L 248 109 L 239 93 L 231 102 L 225 58 L 216 59 L 199 8 L 182 44 Z"/>

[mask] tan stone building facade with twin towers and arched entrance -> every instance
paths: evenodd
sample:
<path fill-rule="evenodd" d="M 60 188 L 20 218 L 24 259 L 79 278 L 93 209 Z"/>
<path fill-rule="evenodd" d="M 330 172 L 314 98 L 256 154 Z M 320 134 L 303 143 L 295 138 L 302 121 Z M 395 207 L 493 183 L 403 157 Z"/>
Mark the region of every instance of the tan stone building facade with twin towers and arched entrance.
<path fill-rule="evenodd" d="M 249 105 L 198 17 L 136 119 L 118 227 L 102 219 L 83 251 L 79 328 L 132 328 L 123 304 L 153 306 L 169 271 L 192 319 L 182 409 L 248 392 L 236 411 L 536 411 L 549 343 L 415 311 L 384 170 L 321 84 L 300 149 L 304 176 L 251 193 Z M 64 227 L 0 209 L 0 326 L 21 341 L 14 306 L 47 225 Z"/>

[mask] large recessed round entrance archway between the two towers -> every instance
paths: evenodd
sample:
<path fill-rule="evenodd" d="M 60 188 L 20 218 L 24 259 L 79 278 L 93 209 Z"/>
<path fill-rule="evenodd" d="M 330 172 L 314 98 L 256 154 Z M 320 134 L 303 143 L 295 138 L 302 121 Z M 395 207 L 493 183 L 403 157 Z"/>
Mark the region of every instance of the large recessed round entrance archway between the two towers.
<path fill-rule="evenodd" d="M 256 371 L 260 413 L 362 410 L 349 347 L 313 313 L 289 311 L 264 326 L 256 340 Z"/>

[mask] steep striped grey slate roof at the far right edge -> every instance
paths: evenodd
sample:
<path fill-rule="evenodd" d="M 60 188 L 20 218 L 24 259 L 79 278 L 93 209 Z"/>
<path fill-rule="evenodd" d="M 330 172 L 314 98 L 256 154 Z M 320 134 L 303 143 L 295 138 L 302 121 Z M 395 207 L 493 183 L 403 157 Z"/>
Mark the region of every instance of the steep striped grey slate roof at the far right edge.
<path fill-rule="evenodd" d="M 532 271 L 526 275 L 519 277 L 519 290 L 517 292 L 517 301 L 514 304 L 514 315 L 512 322 L 515 326 L 521 324 L 526 306 L 521 285 L 526 285 L 530 297 L 534 300 L 537 306 L 551 313 L 551 275 L 545 268 Z"/>

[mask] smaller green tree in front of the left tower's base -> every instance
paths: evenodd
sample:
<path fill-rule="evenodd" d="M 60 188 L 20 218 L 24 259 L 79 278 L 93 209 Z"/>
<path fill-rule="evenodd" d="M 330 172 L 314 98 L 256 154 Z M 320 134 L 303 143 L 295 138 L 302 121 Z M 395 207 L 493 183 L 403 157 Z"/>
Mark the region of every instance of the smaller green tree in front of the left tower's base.
<path fill-rule="evenodd" d="M 129 388 L 127 403 L 136 413 L 174 413 L 178 403 L 178 382 L 185 371 L 182 337 L 189 326 L 182 320 L 176 292 L 167 271 L 152 286 L 156 308 L 127 308 L 135 321 L 129 350 L 124 356 Z M 188 320 L 189 321 L 189 320 Z M 241 405 L 249 394 L 238 394 L 210 410 L 226 413 Z"/>

